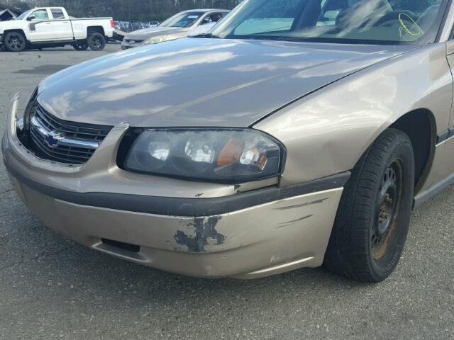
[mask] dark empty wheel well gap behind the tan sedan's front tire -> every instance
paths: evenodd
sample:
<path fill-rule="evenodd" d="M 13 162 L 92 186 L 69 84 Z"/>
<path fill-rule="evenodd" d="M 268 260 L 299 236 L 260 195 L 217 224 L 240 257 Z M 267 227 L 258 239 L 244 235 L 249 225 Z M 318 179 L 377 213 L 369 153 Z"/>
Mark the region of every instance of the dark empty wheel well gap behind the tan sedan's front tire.
<path fill-rule="evenodd" d="M 433 163 L 436 145 L 436 120 L 431 111 L 420 109 L 406 113 L 390 126 L 405 132 L 414 149 L 415 194 L 427 179 Z"/>

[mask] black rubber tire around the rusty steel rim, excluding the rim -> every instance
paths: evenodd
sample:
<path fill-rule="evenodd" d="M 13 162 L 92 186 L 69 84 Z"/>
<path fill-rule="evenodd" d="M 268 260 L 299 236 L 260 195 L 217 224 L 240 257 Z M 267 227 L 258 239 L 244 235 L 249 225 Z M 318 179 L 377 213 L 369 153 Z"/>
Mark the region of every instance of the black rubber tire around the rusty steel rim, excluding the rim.
<path fill-rule="evenodd" d="M 372 254 L 372 227 L 377 223 L 378 197 L 385 171 L 395 159 L 402 168 L 401 203 L 397 208 L 394 248 Z M 331 271 L 363 282 L 387 278 L 402 255 L 414 198 L 414 152 L 409 137 L 389 128 L 367 149 L 344 186 L 324 264 Z M 391 239 L 389 239 L 391 240 Z M 387 261 L 389 259 L 389 261 Z"/>

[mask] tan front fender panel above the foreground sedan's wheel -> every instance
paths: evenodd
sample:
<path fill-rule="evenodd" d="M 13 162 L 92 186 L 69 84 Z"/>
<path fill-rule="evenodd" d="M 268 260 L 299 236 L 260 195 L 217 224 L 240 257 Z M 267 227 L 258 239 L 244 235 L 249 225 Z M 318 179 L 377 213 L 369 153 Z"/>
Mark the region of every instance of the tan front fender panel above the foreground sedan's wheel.
<path fill-rule="evenodd" d="M 255 124 L 287 147 L 282 186 L 353 169 L 385 129 L 416 109 L 430 110 L 438 133 L 446 130 L 453 79 L 445 51 L 438 43 L 380 62 Z"/>

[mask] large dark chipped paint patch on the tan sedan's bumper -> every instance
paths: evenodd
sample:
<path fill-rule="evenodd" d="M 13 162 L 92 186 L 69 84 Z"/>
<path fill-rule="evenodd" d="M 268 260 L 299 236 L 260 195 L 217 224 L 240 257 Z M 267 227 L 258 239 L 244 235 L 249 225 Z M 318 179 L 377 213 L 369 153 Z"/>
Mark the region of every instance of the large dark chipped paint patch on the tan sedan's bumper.
<path fill-rule="evenodd" d="M 226 237 L 216 231 L 216 225 L 221 216 L 211 217 L 194 217 L 194 220 L 188 224 L 188 227 L 194 227 L 195 235 L 188 235 L 181 230 L 178 230 L 174 236 L 177 244 L 187 246 L 189 251 L 200 253 L 205 251 L 205 246 L 209 244 L 209 239 L 214 239 L 216 245 L 221 245 Z"/>

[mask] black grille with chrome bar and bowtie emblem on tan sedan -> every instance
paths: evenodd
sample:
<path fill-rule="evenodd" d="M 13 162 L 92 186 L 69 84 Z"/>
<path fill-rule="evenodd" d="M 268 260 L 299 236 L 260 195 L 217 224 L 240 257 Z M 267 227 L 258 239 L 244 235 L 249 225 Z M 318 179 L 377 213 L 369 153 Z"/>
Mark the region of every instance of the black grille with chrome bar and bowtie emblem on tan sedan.
<path fill-rule="evenodd" d="M 30 119 L 30 137 L 38 157 L 67 164 L 84 164 L 111 126 L 74 123 L 54 117 L 38 103 Z"/>

